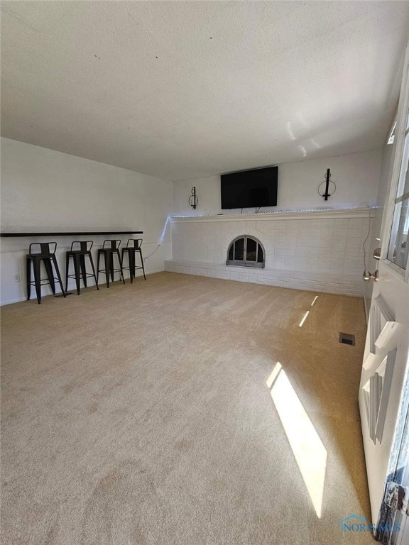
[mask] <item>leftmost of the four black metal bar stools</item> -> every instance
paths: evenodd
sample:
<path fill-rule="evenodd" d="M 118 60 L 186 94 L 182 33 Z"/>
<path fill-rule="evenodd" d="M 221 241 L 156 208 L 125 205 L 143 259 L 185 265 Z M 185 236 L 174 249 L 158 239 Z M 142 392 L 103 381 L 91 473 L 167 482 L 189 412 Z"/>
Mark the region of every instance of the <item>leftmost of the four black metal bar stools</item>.
<path fill-rule="evenodd" d="M 33 251 L 33 246 L 38 246 L 38 252 Z M 53 248 L 52 248 L 53 247 Z M 62 287 L 62 280 L 60 275 L 60 269 L 58 268 L 57 258 L 55 257 L 55 250 L 57 249 L 56 242 L 36 242 L 30 244 L 28 248 L 28 255 L 26 255 L 26 270 L 27 270 L 27 300 L 30 300 L 31 286 L 36 286 L 36 295 L 38 304 L 41 303 L 41 286 L 50 285 L 53 294 L 55 294 L 55 281 L 59 282 L 62 295 L 65 297 L 65 291 Z M 45 272 L 47 278 L 41 278 L 40 265 L 41 261 L 44 263 Z M 34 281 L 31 281 L 31 263 L 33 263 Z M 55 268 L 54 276 L 53 264 Z M 48 282 L 46 282 L 48 280 Z"/>

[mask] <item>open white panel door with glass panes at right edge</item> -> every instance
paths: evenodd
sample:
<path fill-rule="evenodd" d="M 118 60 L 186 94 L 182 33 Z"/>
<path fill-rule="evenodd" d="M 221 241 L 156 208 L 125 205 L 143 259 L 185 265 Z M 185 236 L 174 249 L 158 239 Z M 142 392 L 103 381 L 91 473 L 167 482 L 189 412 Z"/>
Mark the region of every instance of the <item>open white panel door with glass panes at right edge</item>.
<path fill-rule="evenodd" d="M 385 203 L 381 260 L 373 283 L 368 333 L 359 388 L 362 436 L 376 539 L 398 543 L 403 531 L 386 531 L 403 515 L 386 503 L 389 481 L 405 485 L 409 404 L 409 118 L 408 49 L 398 106 L 391 191 Z M 368 277 L 366 271 L 366 277 Z M 406 475 L 406 476 L 405 476 Z M 405 541 L 401 541 L 402 544 Z M 409 542 L 408 542 L 409 543 Z"/>

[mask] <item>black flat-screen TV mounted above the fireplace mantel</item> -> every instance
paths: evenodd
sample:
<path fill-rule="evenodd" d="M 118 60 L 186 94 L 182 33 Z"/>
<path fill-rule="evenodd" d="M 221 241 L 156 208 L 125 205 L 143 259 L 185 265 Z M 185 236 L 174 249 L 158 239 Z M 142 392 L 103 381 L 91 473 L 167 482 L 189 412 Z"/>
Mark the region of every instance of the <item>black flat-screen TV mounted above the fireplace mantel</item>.
<path fill-rule="evenodd" d="M 222 174 L 220 181 L 222 209 L 277 206 L 278 167 Z"/>

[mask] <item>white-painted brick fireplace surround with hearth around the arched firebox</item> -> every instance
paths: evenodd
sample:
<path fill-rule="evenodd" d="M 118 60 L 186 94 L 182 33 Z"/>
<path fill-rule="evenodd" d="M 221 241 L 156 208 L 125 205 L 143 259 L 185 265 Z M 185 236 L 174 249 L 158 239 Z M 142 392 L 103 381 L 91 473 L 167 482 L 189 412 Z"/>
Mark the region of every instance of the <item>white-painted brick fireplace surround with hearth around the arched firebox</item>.
<path fill-rule="evenodd" d="M 173 259 L 165 261 L 165 270 L 363 296 L 373 213 L 364 208 L 173 216 Z M 254 236 L 263 244 L 265 268 L 226 265 L 229 244 L 241 235 Z"/>

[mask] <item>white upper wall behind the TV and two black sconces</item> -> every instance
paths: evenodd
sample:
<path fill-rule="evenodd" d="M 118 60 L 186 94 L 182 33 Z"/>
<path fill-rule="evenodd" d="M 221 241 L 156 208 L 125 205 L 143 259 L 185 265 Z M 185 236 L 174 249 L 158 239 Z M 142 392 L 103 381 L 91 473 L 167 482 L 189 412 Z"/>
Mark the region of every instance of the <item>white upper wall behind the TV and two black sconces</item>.
<path fill-rule="evenodd" d="M 320 207 L 365 207 L 376 204 L 382 149 L 339 155 L 325 159 L 278 165 L 278 206 L 262 211 L 305 210 Z M 327 168 L 337 191 L 327 202 L 317 193 L 325 180 Z M 220 177 L 173 182 L 174 214 L 233 214 L 239 210 L 220 208 Z M 192 210 L 187 199 L 192 186 L 196 187 L 199 205 Z M 246 209 L 253 211 L 253 209 Z"/>

